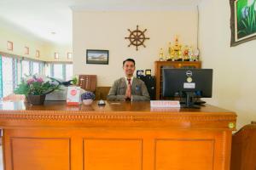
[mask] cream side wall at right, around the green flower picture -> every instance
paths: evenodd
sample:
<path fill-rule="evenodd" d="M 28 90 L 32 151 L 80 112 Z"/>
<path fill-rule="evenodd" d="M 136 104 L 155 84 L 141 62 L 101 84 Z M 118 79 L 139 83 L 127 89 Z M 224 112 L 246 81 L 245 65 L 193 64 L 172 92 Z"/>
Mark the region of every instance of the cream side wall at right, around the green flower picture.
<path fill-rule="evenodd" d="M 214 69 L 208 102 L 236 111 L 239 128 L 256 120 L 256 40 L 230 48 L 230 1 L 206 0 L 200 16 L 202 65 Z"/>

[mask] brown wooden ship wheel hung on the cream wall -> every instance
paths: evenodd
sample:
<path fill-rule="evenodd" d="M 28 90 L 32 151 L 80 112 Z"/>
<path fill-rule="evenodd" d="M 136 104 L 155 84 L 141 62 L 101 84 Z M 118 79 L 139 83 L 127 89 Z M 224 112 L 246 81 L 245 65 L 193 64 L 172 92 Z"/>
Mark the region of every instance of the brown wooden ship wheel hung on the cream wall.
<path fill-rule="evenodd" d="M 128 29 L 128 31 L 130 31 L 130 36 L 129 37 L 125 37 L 125 39 L 129 39 L 130 40 L 130 44 L 128 45 L 128 47 L 130 47 L 131 45 L 136 46 L 136 50 L 137 47 L 143 45 L 144 48 L 146 48 L 146 46 L 144 45 L 145 40 L 148 40 L 149 37 L 145 37 L 145 31 L 147 31 L 147 29 L 145 29 L 144 31 L 140 31 L 138 29 L 131 31 L 130 29 Z"/>

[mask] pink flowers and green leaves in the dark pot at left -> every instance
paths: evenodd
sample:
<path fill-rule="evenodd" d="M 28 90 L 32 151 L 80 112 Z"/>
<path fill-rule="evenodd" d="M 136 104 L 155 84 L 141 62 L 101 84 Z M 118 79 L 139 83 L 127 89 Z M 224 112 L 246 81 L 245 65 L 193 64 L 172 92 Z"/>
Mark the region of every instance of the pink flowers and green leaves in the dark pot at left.
<path fill-rule="evenodd" d="M 33 75 L 26 76 L 22 79 L 17 88 L 15 88 L 15 94 L 28 95 L 44 95 L 53 92 L 56 89 L 60 89 L 60 83 L 49 79 L 48 77 Z"/>

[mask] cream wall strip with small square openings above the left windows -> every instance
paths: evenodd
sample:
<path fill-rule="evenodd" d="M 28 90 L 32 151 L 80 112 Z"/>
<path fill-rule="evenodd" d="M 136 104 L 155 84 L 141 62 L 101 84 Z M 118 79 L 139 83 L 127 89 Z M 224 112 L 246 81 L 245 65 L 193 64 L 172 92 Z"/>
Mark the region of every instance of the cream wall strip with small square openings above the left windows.
<path fill-rule="evenodd" d="M 2 23 L 1 23 L 2 24 Z M 3 23 L 4 24 L 4 23 Z M 50 42 L 43 42 L 35 38 L 27 32 L 15 30 L 0 25 L 0 52 L 20 55 L 30 59 L 39 59 L 44 61 L 71 61 L 67 59 L 67 53 L 73 52 L 71 46 L 63 46 Z M 13 42 L 14 49 L 10 51 L 7 49 L 7 42 Z M 29 54 L 25 54 L 25 47 L 29 48 Z M 36 50 L 40 51 L 40 57 L 36 57 Z M 59 53 L 60 59 L 55 59 L 54 54 Z"/>

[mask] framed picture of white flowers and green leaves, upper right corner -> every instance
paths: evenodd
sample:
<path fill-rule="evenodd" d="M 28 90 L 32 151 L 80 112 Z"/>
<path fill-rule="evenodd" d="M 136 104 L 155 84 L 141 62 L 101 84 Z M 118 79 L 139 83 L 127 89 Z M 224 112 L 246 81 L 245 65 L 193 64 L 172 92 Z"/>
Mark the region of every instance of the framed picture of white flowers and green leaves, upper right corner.
<path fill-rule="evenodd" d="M 230 0 L 230 46 L 256 39 L 256 1 Z"/>

